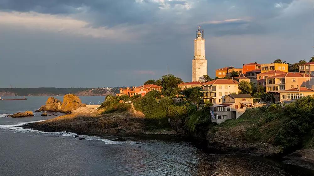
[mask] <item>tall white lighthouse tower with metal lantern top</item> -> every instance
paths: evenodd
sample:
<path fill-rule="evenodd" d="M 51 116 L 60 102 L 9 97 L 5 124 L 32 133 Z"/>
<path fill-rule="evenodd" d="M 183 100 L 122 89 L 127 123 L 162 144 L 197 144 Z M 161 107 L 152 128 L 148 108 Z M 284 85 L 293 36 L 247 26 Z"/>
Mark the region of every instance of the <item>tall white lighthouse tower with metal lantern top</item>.
<path fill-rule="evenodd" d="M 207 75 L 207 60 L 205 57 L 204 30 L 198 26 L 194 39 L 194 59 L 192 60 L 192 81 L 200 81 L 200 77 Z"/>

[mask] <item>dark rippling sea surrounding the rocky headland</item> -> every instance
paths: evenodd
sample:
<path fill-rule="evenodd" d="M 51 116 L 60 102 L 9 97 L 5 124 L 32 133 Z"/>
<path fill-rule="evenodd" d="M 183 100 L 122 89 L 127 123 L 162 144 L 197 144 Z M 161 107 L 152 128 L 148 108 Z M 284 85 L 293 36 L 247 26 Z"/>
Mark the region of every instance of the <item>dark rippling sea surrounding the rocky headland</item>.
<path fill-rule="evenodd" d="M 62 100 L 62 96 L 55 96 Z M 2 97 L 22 98 L 22 97 Z M 208 151 L 178 138 L 113 137 L 78 135 L 72 132 L 42 132 L 21 127 L 61 113 L 42 117 L 35 112 L 48 96 L 28 96 L 26 101 L 0 101 L 0 175 L 93 176 L 93 175 L 213 175 L 290 176 L 313 175 L 313 171 L 278 160 L 239 153 Z M 100 104 L 104 96 L 82 96 L 82 102 Z M 5 117 L 19 111 L 34 116 Z"/>

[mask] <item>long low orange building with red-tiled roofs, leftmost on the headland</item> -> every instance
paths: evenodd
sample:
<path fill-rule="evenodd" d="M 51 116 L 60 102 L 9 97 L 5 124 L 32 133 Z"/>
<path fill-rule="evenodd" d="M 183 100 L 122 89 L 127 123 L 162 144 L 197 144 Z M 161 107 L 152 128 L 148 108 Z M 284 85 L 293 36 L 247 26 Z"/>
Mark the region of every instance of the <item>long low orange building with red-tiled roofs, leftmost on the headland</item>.
<path fill-rule="evenodd" d="M 138 87 L 133 87 L 130 89 L 127 87 L 126 89 L 120 88 L 120 93 L 116 94 L 116 96 L 122 96 L 122 95 L 127 95 L 129 97 L 134 96 L 134 95 L 142 95 L 144 96 L 147 92 L 157 90 L 161 92 L 162 87 L 159 85 L 154 85 L 154 84 L 146 84 L 146 85 L 141 85 Z"/>

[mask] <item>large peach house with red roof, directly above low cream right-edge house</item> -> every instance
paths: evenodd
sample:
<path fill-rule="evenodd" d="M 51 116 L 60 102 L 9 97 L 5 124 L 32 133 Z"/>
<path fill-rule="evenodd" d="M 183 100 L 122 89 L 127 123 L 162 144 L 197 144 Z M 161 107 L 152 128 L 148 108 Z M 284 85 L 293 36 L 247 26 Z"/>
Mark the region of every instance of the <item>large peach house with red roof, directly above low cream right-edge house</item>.
<path fill-rule="evenodd" d="M 314 85 L 314 76 L 305 73 L 284 73 L 266 78 L 266 92 L 279 93 L 298 87 Z"/>

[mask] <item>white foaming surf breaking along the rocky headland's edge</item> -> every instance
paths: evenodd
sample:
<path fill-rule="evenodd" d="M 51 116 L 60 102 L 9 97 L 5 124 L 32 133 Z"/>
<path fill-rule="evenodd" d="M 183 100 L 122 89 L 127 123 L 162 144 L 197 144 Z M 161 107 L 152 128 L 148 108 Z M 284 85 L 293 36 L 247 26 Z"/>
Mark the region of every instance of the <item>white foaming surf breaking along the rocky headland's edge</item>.
<path fill-rule="evenodd" d="M 15 124 L 11 125 L 0 125 L 0 129 L 4 130 L 12 130 L 15 132 L 22 132 L 22 133 L 27 133 L 27 132 L 33 132 L 33 133 L 42 133 L 42 134 L 51 134 L 51 135 L 57 135 L 57 136 L 62 136 L 62 137 L 73 137 L 73 138 L 85 138 L 86 140 L 97 140 L 97 141 L 102 141 L 106 144 L 122 144 L 122 143 L 130 143 L 133 144 L 135 142 L 132 141 L 127 141 L 127 142 L 118 142 L 118 141 L 111 141 L 109 139 L 104 139 L 96 136 L 88 136 L 88 135 L 78 135 L 73 132 L 43 132 L 40 130 L 34 130 L 30 128 L 25 128 L 22 127 L 23 125 L 27 123 L 35 123 L 35 122 L 42 122 L 46 120 L 38 120 L 38 121 L 31 121 L 31 122 L 16 122 Z"/>

